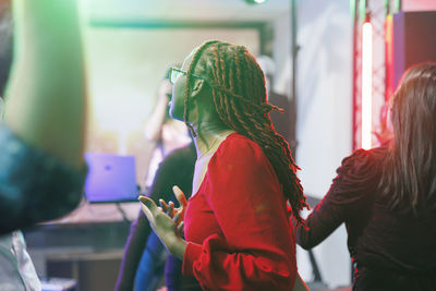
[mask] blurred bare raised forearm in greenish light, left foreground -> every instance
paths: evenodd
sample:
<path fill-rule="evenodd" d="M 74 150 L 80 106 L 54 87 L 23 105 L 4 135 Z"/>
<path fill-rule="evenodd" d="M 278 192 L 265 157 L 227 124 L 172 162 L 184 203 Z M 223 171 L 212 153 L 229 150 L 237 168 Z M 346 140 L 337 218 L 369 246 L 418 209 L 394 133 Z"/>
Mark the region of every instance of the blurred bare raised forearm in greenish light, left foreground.
<path fill-rule="evenodd" d="M 85 81 L 77 2 L 14 0 L 5 123 L 27 144 L 83 168 Z"/>

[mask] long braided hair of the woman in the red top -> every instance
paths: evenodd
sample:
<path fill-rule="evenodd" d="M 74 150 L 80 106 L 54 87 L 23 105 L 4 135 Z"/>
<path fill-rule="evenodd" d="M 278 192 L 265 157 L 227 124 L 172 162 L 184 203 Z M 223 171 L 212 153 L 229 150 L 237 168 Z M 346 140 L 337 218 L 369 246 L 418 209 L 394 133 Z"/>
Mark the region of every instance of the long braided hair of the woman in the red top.
<path fill-rule="evenodd" d="M 187 70 L 184 94 L 184 121 L 189 122 L 189 96 L 193 74 L 204 77 L 211 89 L 215 109 L 230 129 L 257 143 L 271 163 L 293 217 L 303 222 L 300 210 L 308 208 L 300 179 L 300 168 L 291 157 L 288 143 L 278 134 L 269 118 L 271 110 L 280 110 L 267 102 L 265 76 L 253 54 L 243 46 L 219 40 L 203 44 L 194 53 Z"/>

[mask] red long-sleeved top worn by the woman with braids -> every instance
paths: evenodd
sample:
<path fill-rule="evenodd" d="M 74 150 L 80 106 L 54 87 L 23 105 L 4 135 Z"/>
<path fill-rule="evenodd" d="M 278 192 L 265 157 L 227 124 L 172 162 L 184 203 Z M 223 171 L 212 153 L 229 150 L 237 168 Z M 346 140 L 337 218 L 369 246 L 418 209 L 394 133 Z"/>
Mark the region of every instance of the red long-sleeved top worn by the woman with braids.
<path fill-rule="evenodd" d="M 286 199 L 253 141 L 233 133 L 221 143 L 189 201 L 184 225 L 183 274 L 203 289 L 292 290 L 295 240 Z"/>

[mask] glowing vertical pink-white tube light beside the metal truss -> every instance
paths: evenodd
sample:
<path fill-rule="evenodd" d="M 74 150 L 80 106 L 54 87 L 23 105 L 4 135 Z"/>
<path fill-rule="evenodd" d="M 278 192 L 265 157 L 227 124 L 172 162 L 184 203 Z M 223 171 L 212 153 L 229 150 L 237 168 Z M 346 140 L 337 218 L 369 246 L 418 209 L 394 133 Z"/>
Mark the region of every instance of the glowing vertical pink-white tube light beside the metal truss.
<path fill-rule="evenodd" d="M 373 131 L 373 24 L 362 26 L 362 148 L 372 147 Z"/>

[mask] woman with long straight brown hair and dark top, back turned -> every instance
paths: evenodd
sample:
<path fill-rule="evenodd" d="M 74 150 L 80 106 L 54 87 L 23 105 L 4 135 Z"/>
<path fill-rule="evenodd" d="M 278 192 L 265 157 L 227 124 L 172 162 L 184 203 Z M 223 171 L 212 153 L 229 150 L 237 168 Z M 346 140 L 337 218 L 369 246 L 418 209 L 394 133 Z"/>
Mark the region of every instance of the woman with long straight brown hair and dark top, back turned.
<path fill-rule="evenodd" d="M 436 63 L 404 73 L 391 124 L 387 144 L 342 160 L 296 242 L 311 248 L 344 222 L 353 290 L 436 290 Z"/>

